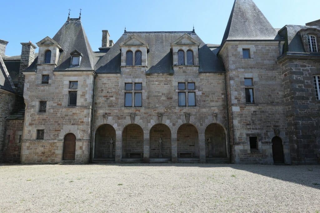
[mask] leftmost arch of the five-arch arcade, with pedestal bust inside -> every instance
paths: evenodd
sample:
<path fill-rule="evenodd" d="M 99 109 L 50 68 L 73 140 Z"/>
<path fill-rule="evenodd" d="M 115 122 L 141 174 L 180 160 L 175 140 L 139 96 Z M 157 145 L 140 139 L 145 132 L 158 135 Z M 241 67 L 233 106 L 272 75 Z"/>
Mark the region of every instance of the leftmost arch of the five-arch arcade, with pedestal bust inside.
<path fill-rule="evenodd" d="M 99 126 L 95 135 L 94 158 L 114 159 L 116 150 L 116 130 L 109 124 Z"/>

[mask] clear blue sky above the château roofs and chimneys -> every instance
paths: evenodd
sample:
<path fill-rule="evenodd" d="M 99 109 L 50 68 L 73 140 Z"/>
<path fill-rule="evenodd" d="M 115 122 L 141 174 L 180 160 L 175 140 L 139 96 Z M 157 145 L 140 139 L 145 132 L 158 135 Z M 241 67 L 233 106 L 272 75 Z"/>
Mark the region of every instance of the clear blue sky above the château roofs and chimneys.
<path fill-rule="evenodd" d="M 20 42 L 36 43 L 54 34 L 71 18 L 79 17 L 93 51 L 101 46 L 101 30 L 116 42 L 128 31 L 188 31 L 205 43 L 220 44 L 234 0 L 109 0 L 3 1 L 0 39 L 9 41 L 6 55 L 20 55 Z M 254 0 L 271 25 L 304 25 L 320 19 L 319 0 Z M 38 49 L 36 49 L 37 52 Z"/>

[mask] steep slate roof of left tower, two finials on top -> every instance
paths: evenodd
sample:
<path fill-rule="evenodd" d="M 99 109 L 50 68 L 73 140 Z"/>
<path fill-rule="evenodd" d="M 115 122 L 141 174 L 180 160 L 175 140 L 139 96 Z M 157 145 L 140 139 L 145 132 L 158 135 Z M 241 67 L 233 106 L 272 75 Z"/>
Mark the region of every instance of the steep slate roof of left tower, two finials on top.
<path fill-rule="evenodd" d="M 93 70 L 92 49 L 80 19 L 68 19 L 52 39 L 63 49 L 55 70 Z M 70 67 L 70 53 L 75 49 L 83 56 L 80 66 Z"/>

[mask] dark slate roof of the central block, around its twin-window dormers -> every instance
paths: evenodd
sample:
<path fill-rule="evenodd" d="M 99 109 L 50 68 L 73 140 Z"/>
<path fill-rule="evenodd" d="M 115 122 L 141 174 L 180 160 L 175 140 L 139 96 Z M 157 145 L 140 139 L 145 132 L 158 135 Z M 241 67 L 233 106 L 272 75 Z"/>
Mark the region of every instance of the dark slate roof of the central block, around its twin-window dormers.
<path fill-rule="evenodd" d="M 120 73 L 121 52 L 120 43 L 129 36 L 137 35 L 149 44 L 147 54 L 147 74 L 150 73 L 173 73 L 171 43 L 183 34 L 190 35 L 200 42 L 199 46 L 199 72 L 221 72 L 224 66 L 220 59 L 207 47 L 207 45 L 192 31 L 169 31 L 169 32 L 126 32 L 110 48 L 105 55 L 98 56 L 95 70 L 97 73 Z"/>

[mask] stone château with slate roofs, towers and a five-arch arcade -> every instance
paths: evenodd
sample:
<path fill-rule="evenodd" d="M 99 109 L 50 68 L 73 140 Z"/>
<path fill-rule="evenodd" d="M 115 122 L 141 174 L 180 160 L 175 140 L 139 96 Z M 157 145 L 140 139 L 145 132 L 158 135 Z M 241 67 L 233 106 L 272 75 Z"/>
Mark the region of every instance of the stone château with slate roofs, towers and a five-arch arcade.
<path fill-rule="evenodd" d="M 220 45 L 102 30 L 92 51 L 80 17 L 19 56 L 7 43 L 2 162 L 320 162 L 320 20 L 275 29 L 235 0 Z"/>

